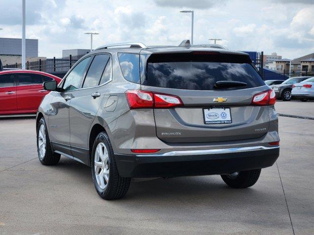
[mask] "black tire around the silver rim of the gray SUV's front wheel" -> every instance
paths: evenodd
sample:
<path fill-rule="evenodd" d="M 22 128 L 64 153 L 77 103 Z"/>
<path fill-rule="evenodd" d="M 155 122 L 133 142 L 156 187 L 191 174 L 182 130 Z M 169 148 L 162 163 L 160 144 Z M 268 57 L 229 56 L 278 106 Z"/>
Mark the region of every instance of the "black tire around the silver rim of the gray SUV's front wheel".
<path fill-rule="evenodd" d="M 41 152 L 40 152 L 40 149 L 39 149 L 40 138 L 38 138 L 39 130 L 40 130 L 42 125 L 45 128 L 44 139 L 46 141 L 45 154 L 43 154 L 43 156 L 41 155 Z M 42 140 L 42 138 L 41 138 L 41 140 Z M 39 122 L 38 122 L 38 125 L 37 125 L 37 153 L 38 153 L 39 161 L 43 165 L 55 165 L 55 164 L 57 164 L 59 162 L 60 156 L 61 156 L 60 154 L 54 153 L 52 151 L 52 147 L 51 147 L 49 136 L 48 136 L 48 131 L 47 131 L 47 125 L 46 125 L 45 118 L 41 118 L 39 120 Z"/>

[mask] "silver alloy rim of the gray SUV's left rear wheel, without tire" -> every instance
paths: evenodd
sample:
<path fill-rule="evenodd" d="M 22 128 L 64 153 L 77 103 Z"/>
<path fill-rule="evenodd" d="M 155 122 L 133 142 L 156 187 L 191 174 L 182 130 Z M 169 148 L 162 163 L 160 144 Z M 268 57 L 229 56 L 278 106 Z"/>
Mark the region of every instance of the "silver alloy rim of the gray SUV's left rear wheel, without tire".
<path fill-rule="evenodd" d="M 94 169 L 98 186 L 101 189 L 105 189 L 109 181 L 109 153 L 105 144 L 102 142 L 96 147 Z"/>

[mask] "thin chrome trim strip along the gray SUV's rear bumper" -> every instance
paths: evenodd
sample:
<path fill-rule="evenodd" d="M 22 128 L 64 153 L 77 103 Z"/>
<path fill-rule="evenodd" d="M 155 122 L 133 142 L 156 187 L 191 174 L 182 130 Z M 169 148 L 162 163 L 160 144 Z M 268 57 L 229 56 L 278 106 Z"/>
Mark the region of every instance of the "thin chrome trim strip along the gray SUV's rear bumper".
<path fill-rule="evenodd" d="M 251 146 L 251 147 L 239 147 L 239 148 L 222 148 L 222 149 L 204 149 L 204 150 L 183 150 L 183 151 L 171 151 L 159 154 L 138 154 L 137 157 L 164 157 L 164 156 L 189 156 L 189 155 L 206 155 L 206 154 L 220 154 L 220 153 L 239 153 L 258 150 L 275 149 L 275 147 L 265 146 Z"/>

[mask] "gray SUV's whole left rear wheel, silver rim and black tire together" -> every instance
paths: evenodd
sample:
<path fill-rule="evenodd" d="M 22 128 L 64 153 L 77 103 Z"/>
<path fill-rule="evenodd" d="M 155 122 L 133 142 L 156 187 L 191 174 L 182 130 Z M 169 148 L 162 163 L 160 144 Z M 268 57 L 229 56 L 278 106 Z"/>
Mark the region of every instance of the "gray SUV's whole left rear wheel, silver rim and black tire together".
<path fill-rule="evenodd" d="M 91 166 L 96 191 L 103 199 L 119 199 L 126 195 L 131 178 L 119 175 L 112 146 L 105 132 L 96 137 Z"/>

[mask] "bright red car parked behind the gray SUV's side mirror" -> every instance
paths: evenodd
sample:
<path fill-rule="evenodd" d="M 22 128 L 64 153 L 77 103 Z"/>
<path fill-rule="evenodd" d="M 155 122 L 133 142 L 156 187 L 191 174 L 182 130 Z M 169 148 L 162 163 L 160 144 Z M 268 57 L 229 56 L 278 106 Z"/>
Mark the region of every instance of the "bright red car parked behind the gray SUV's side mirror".
<path fill-rule="evenodd" d="M 0 71 L 0 115 L 32 114 L 48 91 L 43 82 L 61 78 L 40 71 Z"/>

